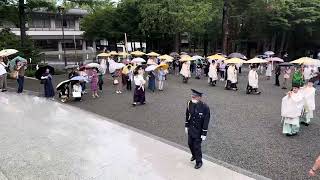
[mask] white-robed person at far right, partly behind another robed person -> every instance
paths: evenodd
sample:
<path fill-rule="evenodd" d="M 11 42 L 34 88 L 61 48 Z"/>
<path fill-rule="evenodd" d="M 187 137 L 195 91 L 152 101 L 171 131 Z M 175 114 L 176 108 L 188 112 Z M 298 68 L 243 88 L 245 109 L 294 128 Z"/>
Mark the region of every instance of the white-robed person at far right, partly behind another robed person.
<path fill-rule="evenodd" d="M 304 95 L 304 113 L 301 118 L 301 124 L 308 126 L 313 118 L 313 111 L 316 109 L 315 96 L 316 89 L 313 87 L 313 82 L 309 81 L 302 89 Z"/>

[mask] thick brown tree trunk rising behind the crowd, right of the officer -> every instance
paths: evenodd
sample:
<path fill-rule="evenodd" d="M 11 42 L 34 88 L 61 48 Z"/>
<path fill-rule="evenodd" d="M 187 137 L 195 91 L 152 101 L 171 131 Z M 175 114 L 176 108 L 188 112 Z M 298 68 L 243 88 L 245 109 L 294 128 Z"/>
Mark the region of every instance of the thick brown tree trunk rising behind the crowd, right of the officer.
<path fill-rule="evenodd" d="M 223 18 L 222 18 L 223 45 L 222 52 L 228 54 L 228 38 L 229 38 L 229 0 L 224 0 Z"/>

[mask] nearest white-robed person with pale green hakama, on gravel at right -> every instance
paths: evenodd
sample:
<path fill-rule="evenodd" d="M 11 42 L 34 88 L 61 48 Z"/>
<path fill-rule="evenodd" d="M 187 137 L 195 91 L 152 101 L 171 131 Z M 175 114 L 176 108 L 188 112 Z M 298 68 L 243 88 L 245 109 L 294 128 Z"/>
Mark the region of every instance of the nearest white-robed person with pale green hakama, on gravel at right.
<path fill-rule="evenodd" d="M 300 119 L 304 97 L 298 84 L 294 84 L 292 91 L 282 98 L 281 116 L 283 120 L 282 133 L 287 136 L 297 135 L 300 128 Z"/>

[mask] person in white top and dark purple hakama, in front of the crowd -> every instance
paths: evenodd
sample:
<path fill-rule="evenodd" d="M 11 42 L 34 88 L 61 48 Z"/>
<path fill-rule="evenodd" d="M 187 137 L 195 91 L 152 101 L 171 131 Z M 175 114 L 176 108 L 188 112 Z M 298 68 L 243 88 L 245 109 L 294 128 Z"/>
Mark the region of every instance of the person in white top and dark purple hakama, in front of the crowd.
<path fill-rule="evenodd" d="M 144 85 L 146 84 L 146 81 L 143 78 L 144 70 L 142 66 L 138 66 L 136 70 L 134 71 L 134 94 L 133 94 L 133 106 L 136 106 L 137 103 L 140 103 L 141 105 L 145 104 L 146 97 L 145 97 L 145 88 Z"/>

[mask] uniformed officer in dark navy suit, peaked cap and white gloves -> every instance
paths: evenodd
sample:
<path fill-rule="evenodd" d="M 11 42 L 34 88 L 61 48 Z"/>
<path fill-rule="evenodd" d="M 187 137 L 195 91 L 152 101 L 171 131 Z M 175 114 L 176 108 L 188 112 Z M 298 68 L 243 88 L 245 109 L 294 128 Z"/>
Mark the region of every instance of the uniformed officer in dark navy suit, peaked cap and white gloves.
<path fill-rule="evenodd" d="M 207 137 L 210 121 L 210 109 L 201 101 L 202 93 L 191 89 L 191 101 L 186 111 L 185 132 L 188 135 L 188 145 L 192 154 L 191 161 L 196 160 L 195 169 L 202 166 L 201 142 Z"/>

